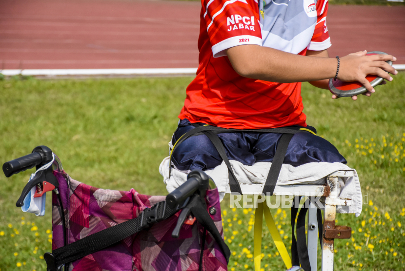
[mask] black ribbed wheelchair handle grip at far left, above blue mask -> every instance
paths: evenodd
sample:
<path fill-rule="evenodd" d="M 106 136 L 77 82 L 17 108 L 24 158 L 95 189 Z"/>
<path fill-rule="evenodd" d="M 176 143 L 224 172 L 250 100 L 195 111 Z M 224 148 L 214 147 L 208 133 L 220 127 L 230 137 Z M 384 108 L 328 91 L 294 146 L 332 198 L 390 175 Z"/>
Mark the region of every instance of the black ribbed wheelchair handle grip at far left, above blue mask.
<path fill-rule="evenodd" d="M 27 169 L 31 169 L 42 163 L 43 156 L 40 153 L 32 153 L 22 156 L 20 158 L 5 162 L 3 164 L 3 172 L 6 177 L 10 177 L 13 174 L 20 173 Z"/>

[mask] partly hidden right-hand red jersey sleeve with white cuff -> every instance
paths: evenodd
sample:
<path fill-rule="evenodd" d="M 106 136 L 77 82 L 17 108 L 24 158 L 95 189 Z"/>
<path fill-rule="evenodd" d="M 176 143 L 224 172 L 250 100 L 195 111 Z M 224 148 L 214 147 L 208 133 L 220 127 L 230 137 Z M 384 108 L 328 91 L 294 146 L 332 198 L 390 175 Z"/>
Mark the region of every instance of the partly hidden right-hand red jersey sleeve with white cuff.
<path fill-rule="evenodd" d="M 322 51 L 332 46 L 326 25 L 327 10 L 328 0 L 318 0 L 316 3 L 318 19 L 316 22 L 314 35 L 312 36 L 312 39 L 307 47 L 308 50 Z"/>

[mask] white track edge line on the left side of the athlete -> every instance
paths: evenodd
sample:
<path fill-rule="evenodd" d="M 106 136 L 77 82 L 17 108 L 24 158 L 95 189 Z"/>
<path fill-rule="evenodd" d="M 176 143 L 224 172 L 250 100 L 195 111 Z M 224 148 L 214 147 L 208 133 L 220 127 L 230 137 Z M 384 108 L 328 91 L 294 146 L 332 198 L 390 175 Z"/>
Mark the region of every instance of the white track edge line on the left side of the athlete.
<path fill-rule="evenodd" d="M 98 76 L 98 75 L 177 75 L 193 74 L 197 68 L 168 69 L 38 69 L 38 70 L 2 70 L 5 76 Z"/>

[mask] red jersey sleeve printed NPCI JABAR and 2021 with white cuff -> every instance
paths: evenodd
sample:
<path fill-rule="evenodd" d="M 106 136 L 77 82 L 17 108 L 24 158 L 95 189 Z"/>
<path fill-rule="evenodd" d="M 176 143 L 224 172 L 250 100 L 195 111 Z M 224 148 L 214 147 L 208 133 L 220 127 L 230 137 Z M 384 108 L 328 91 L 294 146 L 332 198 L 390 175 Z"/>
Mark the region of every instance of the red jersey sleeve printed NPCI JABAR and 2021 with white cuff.
<path fill-rule="evenodd" d="M 203 17 L 214 58 L 225 49 L 243 45 L 262 46 L 257 0 L 203 0 Z"/>

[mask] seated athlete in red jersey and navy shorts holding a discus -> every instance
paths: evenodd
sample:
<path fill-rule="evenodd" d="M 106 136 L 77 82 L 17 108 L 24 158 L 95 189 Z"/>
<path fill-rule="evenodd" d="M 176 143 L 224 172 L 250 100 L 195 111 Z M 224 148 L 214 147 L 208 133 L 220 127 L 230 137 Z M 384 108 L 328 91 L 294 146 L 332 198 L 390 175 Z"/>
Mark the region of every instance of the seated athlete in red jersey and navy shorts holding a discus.
<path fill-rule="evenodd" d="M 306 124 L 301 82 L 328 89 L 328 79 L 337 76 L 361 82 L 371 96 L 375 91 L 366 75 L 391 81 L 387 72 L 397 71 L 385 61 L 395 61 L 393 56 L 358 52 L 340 58 L 340 66 L 337 58 L 329 58 L 327 10 L 327 0 L 203 0 L 197 77 L 187 87 L 171 147 L 196 124 L 235 128 L 241 132 L 218 135 L 230 160 L 272 162 L 282 134 L 243 130 L 298 126 L 316 133 Z M 223 160 L 200 135 L 177 146 L 171 161 L 174 169 L 189 173 L 214 169 Z M 320 161 L 346 163 L 319 136 L 292 137 L 285 164 Z"/>

